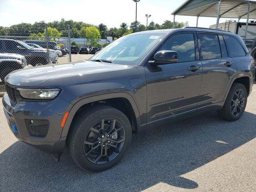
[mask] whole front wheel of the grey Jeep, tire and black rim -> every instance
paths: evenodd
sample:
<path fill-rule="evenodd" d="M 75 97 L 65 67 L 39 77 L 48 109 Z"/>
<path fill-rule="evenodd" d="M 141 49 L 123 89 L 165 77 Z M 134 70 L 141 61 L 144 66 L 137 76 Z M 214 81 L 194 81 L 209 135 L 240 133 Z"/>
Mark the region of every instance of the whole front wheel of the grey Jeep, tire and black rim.
<path fill-rule="evenodd" d="M 103 171 L 117 164 L 128 150 L 132 129 L 116 108 L 95 106 L 78 115 L 70 127 L 67 148 L 83 169 Z"/>

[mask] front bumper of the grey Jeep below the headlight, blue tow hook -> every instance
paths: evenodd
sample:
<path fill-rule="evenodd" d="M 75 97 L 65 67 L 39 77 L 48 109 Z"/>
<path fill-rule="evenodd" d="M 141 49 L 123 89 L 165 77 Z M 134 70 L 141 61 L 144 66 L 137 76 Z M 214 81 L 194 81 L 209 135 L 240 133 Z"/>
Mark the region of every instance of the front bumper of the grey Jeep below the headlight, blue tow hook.
<path fill-rule="evenodd" d="M 66 137 L 61 137 L 60 124 L 72 106 L 70 103 L 57 97 L 51 101 L 20 101 L 14 104 L 7 93 L 2 103 L 8 125 L 16 138 L 50 154 L 63 152 Z M 46 125 L 40 125 L 41 122 L 48 122 L 48 129 L 42 130 Z"/>

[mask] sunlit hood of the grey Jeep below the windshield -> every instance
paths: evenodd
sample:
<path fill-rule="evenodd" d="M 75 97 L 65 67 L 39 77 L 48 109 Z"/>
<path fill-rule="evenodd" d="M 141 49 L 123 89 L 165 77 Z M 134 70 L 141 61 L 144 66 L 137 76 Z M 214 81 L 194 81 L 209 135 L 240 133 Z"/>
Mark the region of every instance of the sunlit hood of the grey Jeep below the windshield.
<path fill-rule="evenodd" d="M 52 79 L 56 79 L 60 83 L 67 81 L 76 81 L 78 83 L 78 80 L 87 82 L 88 80 L 92 80 L 92 78 L 96 80 L 106 78 L 107 75 L 102 73 L 114 72 L 126 68 L 128 66 L 93 61 L 51 64 L 11 72 L 6 76 L 6 82 L 14 86 L 30 87 L 38 87 L 42 83 Z M 115 74 L 118 73 L 115 72 Z"/>

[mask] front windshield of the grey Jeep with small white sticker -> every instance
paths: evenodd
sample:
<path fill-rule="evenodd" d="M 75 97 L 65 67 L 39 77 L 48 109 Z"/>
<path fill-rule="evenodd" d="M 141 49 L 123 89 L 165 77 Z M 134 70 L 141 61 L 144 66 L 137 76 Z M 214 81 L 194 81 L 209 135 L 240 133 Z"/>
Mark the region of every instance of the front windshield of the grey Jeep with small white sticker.
<path fill-rule="evenodd" d="M 138 65 L 165 33 L 135 34 L 115 40 L 90 60 L 110 60 L 114 64 Z"/>

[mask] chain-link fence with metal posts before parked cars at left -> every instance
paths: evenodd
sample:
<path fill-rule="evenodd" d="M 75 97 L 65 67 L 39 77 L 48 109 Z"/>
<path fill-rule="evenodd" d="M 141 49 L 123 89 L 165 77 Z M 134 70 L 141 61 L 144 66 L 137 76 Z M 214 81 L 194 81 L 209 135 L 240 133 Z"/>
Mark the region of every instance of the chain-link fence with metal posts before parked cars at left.
<path fill-rule="evenodd" d="M 29 36 L 31 34 L 0 36 L 0 85 L 14 70 L 70 62 L 70 30 L 66 31 L 62 37 L 50 37 L 46 26 L 45 37 Z"/>

